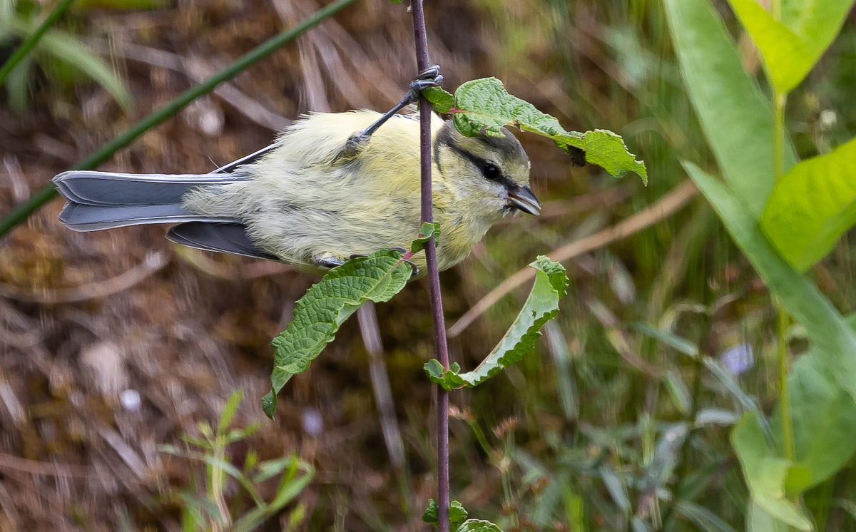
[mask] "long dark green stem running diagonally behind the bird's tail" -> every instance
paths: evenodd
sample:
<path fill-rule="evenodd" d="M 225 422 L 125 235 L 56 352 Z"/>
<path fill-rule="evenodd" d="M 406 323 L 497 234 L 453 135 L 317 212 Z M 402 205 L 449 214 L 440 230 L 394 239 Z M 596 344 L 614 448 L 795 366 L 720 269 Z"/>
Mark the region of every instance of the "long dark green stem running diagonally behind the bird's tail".
<path fill-rule="evenodd" d="M 164 121 L 167 121 L 170 117 L 175 116 L 179 111 L 181 111 L 181 109 L 187 107 L 187 105 L 193 102 L 196 98 L 205 96 L 205 94 L 213 91 L 215 87 L 224 81 L 231 80 L 236 75 L 241 74 L 241 72 L 250 68 L 253 64 L 259 62 L 259 60 L 269 56 L 271 53 L 279 49 L 283 44 L 288 44 L 295 38 L 300 37 L 300 35 L 306 33 L 307 30 L 318 26 L 319 23 L 330 18 L 332 15 L 336 15 L 336 13 L 354 2 L 356 2 L 356 0 L 336 0 L 336 2 L 330 3 L 322 9 L 318 9 L 318 11 L 307 16 L 296 26 L 290 27 L 279 35 L 268 39 L 264 44 L 260 44 L 253 50 L 250 50 L 235 62 L 231 63 L 228 67 L 223 68 L 223 70 L 217 74 L 214 74 L 207 80 L 199 83 L 199 85 L 193 86 L 187 89 L 187 91 L 182 92 L 161 109 L 147 115 L 145 118 L 135 123 L 134 126 L 130 127 L 128 131 L 122 133 L 122 135 L 115 139 L 110 140 L 109 143 L 101 146 L 101 148 L 94 151 L 89 157 L 75 163 L 74 166 L 69 169 L 91 170 L 93 168 L 97 168 L 98 165 L 109 160 L 110 157 L 113 157 L 116 151 L 122 150 L 125 146 L 130 145 L 134 140 L 139 139 L 143 133 L 152 129 L 152 127 L 158 126 L 158 124 L 161 124 Z M 26 202 L 15 206 L 15 209 L 11 210 L 8 215 L 4 216 L 3 219 L 0 220 L 0 237 L 9 233 L 9 231 L 15 228 L 15 226 L 26 220 L 27 217 L 32 215 L 35 210 L 39 209 L 39 207 L 55 196 L 56 186 L 51 183 L 50 185 L 40 189 L 39 192 L 33 194 L 33 196 L 31 196 Z"/>

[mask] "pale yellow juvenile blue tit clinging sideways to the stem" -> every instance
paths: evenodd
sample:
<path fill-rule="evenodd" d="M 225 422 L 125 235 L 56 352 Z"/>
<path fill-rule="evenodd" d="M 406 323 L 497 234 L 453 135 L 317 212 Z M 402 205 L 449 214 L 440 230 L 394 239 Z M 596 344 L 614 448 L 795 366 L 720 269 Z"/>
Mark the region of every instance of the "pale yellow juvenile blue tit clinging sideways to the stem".
<path fill-rule="evenodd" d="M 420 226 L 419 120 L 384 118 L 353 149 L 354 132 L 379 116 L 307 115 L 274 145 L 210 174 L 65 172 L 54 178 L 68 200 L 60 221 L 76 231 L 179 222 L 167 233 L 178 244 L 314 274 L 354 254 L 407 247 Z M 538 215 L 540 205 L 513 134 L 465 137 L 438 115 L 431 132 L 434 219 L 443 230 L 437 261 L 448 269 L 491 225 L 517 210 Z M 424 274 L 424 252 L 413 262 Z"/>

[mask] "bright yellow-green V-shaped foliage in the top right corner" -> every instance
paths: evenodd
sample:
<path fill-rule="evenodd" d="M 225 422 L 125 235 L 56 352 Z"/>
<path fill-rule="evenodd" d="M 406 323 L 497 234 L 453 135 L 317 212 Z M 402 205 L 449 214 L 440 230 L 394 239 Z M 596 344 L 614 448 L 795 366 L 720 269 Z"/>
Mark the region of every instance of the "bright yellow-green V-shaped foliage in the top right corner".
<path fill-rule="evenodd" d="M 764 56 L 776 92 L 794 90 L 832 43 L 853 0 L 785 0 L 782 21 L 755 0 L 728 0 Z"/>

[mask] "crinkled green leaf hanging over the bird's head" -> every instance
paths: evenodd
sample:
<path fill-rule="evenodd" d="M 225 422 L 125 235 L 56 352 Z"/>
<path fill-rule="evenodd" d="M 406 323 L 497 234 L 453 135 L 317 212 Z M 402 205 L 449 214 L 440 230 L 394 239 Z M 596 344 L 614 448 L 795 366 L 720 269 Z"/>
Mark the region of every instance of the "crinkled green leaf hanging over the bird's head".
<path fill-rule="evenodd" d="M 452 119 L 461 134 L 502 137 L 504 126 L 553 139 L 564 151 L 571 147 L 586 151 L 586 162 L 603 167 L 614 177 L 635 172 L 647 184 L 645 163 L 636 161 L 619 135 L 597 129 L 586 133 L 565 131 L 553 116 L 545 115 L 532 103 L 516 98 L 496 78 L 467 81 L 455 91 Z M 573 154 L 572 154 L 573 155 Z"/>

